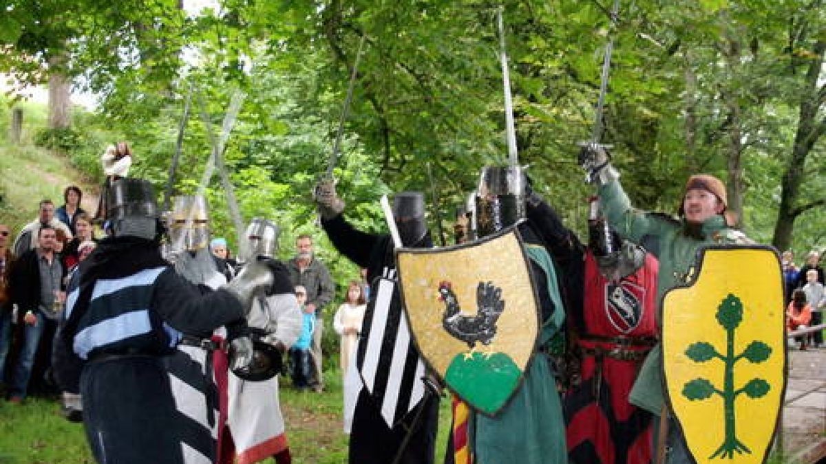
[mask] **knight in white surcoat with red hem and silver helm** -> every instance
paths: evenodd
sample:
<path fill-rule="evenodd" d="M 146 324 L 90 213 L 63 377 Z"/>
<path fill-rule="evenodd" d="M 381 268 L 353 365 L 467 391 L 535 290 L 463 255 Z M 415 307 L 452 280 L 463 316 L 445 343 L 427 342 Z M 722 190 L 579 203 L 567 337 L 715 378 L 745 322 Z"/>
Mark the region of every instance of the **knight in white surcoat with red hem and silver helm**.
<path fill-rule="evenodd" d="M 246 229 L 247 244 L 241 247 L 246 250 L 241 257 L 246 266 L 262 260 L 276 263 L 278 278 L 272 288 L 255 295 L 247 315 L 255 348 L 251 367 L 247 372 L 230 371 L 221 391 L 221 403 L 227 406 L 221 410 L 227 416 L 221 421 L 219 463 L 259 462 L 267 457 L 278 464 L 292 460 L 278 401 L 277 374 L 282 372 L 284 352 L 301 333 L 301 310 L 287 267 L 274 260 L 279 233 L 272 221 L 254 218 Z"/>

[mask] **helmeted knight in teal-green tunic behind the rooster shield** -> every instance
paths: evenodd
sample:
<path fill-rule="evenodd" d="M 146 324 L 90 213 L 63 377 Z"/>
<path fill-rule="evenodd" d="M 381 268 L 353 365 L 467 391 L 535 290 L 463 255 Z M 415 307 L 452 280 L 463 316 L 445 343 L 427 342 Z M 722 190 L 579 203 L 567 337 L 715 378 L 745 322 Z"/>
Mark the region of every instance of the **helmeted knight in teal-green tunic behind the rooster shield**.
<path fill-rule="evenodd" d="M 514 396 L 494 417 L 471 413 L 473 462 L 567 462 L 562 404 L 549 358 L 563 347 L 565 308 L 553 261 L 533 225 L 523 220 L 525 177 L 520 167 L 482 168 L 473 216 L 480 239 L 517 225 L 541 309 L 537 349 Z"/>

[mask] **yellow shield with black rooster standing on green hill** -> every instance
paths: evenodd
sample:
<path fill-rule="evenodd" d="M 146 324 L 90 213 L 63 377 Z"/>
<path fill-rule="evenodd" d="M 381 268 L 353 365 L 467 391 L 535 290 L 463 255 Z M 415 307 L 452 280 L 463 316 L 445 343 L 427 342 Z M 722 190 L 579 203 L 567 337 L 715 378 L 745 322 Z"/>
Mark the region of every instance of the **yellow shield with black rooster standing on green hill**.
<path fill-rule="evenodd" d="M 475 410 L 496 414 L 520 386 L 539 334 L 539 305 L 519 233 L 396 251 L 419 352 Z"/>

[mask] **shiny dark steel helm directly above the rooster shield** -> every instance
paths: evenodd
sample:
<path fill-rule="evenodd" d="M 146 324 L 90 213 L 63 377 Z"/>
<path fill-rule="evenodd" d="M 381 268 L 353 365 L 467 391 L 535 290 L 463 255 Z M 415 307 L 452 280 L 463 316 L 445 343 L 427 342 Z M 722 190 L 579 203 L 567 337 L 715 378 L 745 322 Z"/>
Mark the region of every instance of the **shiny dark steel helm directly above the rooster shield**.
<path fill-rule="evenodd" d="M 476 190 L 477 235 L 494 234 L 525 217 L 525 177 L 519 166 L 485 166 Z"/>

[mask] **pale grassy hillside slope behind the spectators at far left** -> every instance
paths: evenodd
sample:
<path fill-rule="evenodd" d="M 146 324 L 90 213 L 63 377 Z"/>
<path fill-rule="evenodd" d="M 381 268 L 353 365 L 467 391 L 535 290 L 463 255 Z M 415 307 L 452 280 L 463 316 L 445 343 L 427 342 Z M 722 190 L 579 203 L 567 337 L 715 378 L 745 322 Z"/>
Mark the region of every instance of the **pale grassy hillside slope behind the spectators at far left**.
<path fill-rule="evenodd" d="M 63 205 L 69 185 L 83 190 L 81 206 L 94 214 L 100 185 L 73 168 L 69 159 L 31 144 L 0 142 L 0 221 L 11 226 L 12 235 L 36 218 L 40 200 Z"/>

